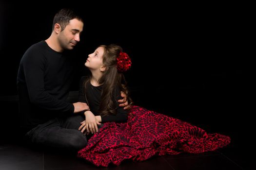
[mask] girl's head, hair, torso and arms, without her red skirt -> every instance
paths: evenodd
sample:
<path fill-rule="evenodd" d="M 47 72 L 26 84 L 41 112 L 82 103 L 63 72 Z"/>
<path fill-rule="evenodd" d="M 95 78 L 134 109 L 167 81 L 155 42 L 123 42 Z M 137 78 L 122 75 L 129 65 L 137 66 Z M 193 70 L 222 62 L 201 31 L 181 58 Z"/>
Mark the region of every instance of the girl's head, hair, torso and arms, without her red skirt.
<path fill-rule="evenodd" d="M 117 67 L 119 63 L 117 59 L 128 64 L 125 67 L 118 64 Z M 117 101 L 122 99 L 121 91 L 128 96 L 125 78 L 121 71 L 130 68 L 129 56 L 117 45 L 102 45 L 94 53 L 89 54 L 85 66 L 89 68 L 91 75 L 89 78 L 81 78 L 79 101 L 86 102 L 90 110 L 84 112 L 85 120 L 79 130 L 82 132 L 87 130 L 87 133 L 94 134 L 98 132 L 98 125 L 101 122 L 126 122 L 128 112 L 118 106 Z"/>

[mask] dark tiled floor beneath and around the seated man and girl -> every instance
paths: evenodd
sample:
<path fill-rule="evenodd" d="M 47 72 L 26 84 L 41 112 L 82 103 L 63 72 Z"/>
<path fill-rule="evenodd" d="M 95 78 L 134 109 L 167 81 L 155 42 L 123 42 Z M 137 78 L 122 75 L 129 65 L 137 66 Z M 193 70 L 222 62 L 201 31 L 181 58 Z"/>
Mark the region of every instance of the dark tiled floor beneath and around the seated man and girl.
<path fill-rule="evenodd" d="M 4 106 L 15 108 L 10 103 Z M 216 123 L 216 119 L 212 120 L 214 122 L 190 119 L 207 131 L 231 136 L 228 146 L 214 152 L 156 156 L 142 162 L 124 161 L 119 166 L 102 168 L 77 158 L 74 153 L 50 151 L 24 143 L 15 127 L 18 122 L 13 118 L 13 115 L 5 114 L 6 122 L 0 124 L 0 170 L 256 170 L 256 144 L 252 137 L 248 137 L 252 136 L 253 129 L 249 120 L 243 126 L 237 126 L 238 121 L 233 118 L 233 123 L 230 121 L 227 126 L 224 118 L 218 121 L 223 123 Z M 189 120 L 185 115 L 184 119 Z M 6 126 L 7 120 L 13 126 Z"/>

